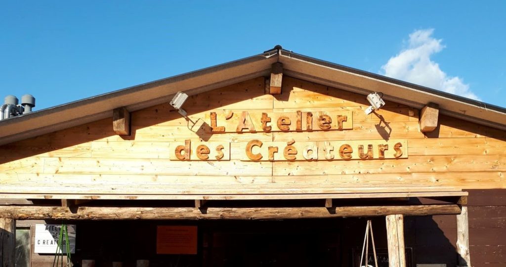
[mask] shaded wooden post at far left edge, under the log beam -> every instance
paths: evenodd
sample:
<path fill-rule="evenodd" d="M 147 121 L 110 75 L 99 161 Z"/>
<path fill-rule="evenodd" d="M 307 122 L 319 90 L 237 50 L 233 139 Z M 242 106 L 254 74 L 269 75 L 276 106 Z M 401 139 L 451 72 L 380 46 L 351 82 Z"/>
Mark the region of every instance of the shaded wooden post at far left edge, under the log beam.
<path fill-rule="evenodd" d="M 16 248 L 16 221 L 0 218 L 0 263 L 2 267 L 14 267 Z"/>

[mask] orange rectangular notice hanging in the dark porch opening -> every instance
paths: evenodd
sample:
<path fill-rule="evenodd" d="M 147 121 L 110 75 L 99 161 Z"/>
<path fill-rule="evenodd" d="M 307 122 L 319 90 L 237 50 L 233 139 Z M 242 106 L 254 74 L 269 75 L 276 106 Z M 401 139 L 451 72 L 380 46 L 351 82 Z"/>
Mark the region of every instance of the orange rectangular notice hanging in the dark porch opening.
<path fill-rule="evenodd" d="M 157 254 L 197 254 L 196 226 L 158 226 Z"/>

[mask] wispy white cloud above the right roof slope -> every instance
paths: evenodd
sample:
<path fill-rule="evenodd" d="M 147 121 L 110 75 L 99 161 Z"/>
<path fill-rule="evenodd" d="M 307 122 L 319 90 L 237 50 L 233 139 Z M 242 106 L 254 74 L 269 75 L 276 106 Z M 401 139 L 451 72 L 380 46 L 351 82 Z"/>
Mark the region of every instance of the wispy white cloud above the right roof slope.
<path fill-rule="evenodd" d="M 382 66 L 382 74 L 395 79 L 438 89 L 476 100 L 480 98 L 459 77 L 448 76 L 431 60 L 443 48 L 441 39 L 432 36 L 434 29 L 417 30 L 409 34 L 407 48 Z"/>

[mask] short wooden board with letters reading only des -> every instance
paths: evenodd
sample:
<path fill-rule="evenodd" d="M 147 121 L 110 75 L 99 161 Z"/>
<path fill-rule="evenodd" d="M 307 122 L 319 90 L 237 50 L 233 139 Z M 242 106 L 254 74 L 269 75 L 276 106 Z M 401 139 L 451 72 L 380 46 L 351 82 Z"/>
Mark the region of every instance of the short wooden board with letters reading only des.
<path fill-rule="evenodd" d="M 173 142 L 169 145 L 171 161 L 229 161 L 230 143 L 191 142 L 184 144 Z"/>

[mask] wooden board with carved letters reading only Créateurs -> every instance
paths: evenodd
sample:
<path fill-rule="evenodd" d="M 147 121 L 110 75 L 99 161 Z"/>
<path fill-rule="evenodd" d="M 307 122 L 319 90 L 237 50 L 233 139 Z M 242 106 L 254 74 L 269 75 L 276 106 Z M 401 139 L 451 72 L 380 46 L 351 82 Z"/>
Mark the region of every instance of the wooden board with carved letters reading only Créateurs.
<path fill-rule="evenodd" d="M 242 161 L 337 161 L 407 158 L 407 140 L 241 143 Z M 334 148 L 338 147 L 337 151 Z M 391 147 L 391 148 L 390 148 Z M 277 151 L 283 151 L 278 153 Z M 234 153 L 235 154 L 235 153 Z"/>

